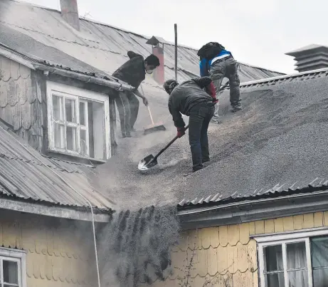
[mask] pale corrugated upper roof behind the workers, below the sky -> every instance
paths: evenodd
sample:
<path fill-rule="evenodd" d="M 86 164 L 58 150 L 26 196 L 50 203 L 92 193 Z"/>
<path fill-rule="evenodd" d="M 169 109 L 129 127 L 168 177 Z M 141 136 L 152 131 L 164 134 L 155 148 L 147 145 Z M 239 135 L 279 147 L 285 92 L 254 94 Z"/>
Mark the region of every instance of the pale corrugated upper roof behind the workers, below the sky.
<path fill-rule="evenodd" d="M 4 26 L 30 36 L 48 47 L 78 58 L 109 75 L 128 60 L 127 51 L 133 50 L 143 56 L 148 56 L 152 51 L 152 46 L 146 43 L 151 37 L 88 19 L 80 19 L 80 31 L 75 31 L 65 23 L 60 12 L 53 9 L 18 1 L 2 0 L 0 1 L 0 10 L 2 13 L 0 23 Z M 20 41 L 19 36 L 17 38 L 17 41 Z M 165 40 L 161 38 L 161 41 Z M 22 49 L 25 49 L 25 46 L 26 48 L 31 47 L 29 51 L 32 54 L 37 53 L 37 49 L 28 43 L 29 40 L 26 45 L 20 47 Z M 166 79 L 174 78 L 174 45 L 167 41 L 164 43 L 165 77 Z M 179 80 L 199 75 L 199 59 L 196 56 L 196 49 L 179 45 L 178 56 Z M 58 54 L 54 53 L 53 62 L 60 63 L 60 61 Z M 71 67 L 70 65 L 65 66 Z M 282 73 L 240 63 L 240 80 L 242 82 L 275 75 L 282 75 Z M 153 83 L 151 80 L 148 81 Z"/>

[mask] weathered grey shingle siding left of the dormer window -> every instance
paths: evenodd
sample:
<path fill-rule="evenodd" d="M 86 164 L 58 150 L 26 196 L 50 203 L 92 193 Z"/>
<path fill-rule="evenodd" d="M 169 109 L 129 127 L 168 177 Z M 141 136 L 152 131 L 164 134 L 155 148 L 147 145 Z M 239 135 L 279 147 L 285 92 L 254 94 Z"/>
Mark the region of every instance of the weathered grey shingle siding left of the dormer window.
<path fill-rule="evenodd" d="M 0 118 L 41 151 L 43 118 L 36 73 L 3 56 L 0 56 Z"/>

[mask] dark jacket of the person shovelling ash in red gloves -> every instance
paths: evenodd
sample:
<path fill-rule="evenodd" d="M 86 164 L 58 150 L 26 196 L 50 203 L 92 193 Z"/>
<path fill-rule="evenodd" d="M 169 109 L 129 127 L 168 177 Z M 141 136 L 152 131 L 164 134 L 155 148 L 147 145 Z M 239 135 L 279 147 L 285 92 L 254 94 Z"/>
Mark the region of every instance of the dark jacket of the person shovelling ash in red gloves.
<path fill-rule="evenodd" d="M 195 78 L 186 80 L 177 85 L 169 96 L 169 112 L 171 113 L 176 127 L 184 127 L 185 123 L 181 114 L 190 115 L 195 105 L 215 105 L 213 98 L 203 90 L 212 82 L 211 78 Z"/>

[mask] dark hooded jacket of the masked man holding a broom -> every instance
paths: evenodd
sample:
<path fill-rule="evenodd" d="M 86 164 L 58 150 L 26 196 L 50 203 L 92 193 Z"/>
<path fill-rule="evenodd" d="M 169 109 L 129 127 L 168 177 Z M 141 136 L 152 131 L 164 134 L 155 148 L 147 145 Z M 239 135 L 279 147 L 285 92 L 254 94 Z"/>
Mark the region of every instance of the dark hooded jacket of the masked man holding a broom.
<path fill-rule="evenodd" d="M 132 85 L 137 90 L 146 78 L 144 57 L 133 51 L 128 51 L 127 56 L 129 56 L 129 61 L 120 66 L 112 76 Z"/>

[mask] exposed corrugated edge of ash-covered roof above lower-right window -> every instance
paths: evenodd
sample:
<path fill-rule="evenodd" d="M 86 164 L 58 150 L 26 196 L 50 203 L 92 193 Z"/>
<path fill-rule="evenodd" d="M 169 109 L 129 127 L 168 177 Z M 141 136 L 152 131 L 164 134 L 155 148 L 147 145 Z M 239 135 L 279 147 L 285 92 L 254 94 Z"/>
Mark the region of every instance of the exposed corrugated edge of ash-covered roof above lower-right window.
<path fill-rule="evenodd" d="M 297 182 L 288 187 L 286 184 L 276 184 L 273 188 L 255 189 L 254 192 L 248 194 L 238 194 L 235 192 L 231 194 L 231 197 L 223 197 L 222 194 L 209 195 L 208 197 L 203 197 L 201 199 L 183 199 L 178 204 L 179 209 L 186 208 L 196 208 L 204 206 L 215 206 L 220 204 L 229 204 L 232 202 L 241 202 L 245 200 L 258 200 L 270 197 L 283 197 L 292 194 L 309 193 L 315 192 L 317 190 L 327 190 L 328 180 L 316 178 L 310 182 L 307 186 L 298 186 Z"/>

